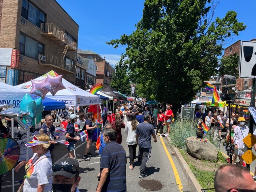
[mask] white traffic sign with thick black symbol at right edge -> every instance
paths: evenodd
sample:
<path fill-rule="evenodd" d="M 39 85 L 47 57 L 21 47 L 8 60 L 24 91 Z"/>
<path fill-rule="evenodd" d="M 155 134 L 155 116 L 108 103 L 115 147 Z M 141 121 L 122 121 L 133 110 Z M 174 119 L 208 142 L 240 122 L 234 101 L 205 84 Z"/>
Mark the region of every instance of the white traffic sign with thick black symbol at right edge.
<path fill-rule="evenodd" d="M 239 57 L 239 77 L 256 79 L 256 42 L 242 41 Z"/>

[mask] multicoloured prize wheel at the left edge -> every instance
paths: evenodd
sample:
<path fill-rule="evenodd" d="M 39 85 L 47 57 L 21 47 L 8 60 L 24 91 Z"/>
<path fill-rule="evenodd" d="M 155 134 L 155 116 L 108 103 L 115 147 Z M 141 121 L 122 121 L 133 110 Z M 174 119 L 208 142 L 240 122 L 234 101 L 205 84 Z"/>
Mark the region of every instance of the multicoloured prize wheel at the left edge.
<path fill-rule="evenodd" d="M 20 148 L 12 138 L 0 139 L 0 175 L 3 175 L 18 163 Z"/>

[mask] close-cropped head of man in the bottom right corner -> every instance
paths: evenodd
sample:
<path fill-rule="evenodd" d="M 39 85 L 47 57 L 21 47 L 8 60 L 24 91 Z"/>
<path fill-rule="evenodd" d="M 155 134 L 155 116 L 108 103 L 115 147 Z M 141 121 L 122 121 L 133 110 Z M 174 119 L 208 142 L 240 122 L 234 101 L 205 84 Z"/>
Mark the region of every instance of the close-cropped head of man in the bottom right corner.
<path fill-rule="evenodd" d="M 224 164 L 214 177 L 215 192 L 256 192 L 256 182 L 244 166 Z"/>

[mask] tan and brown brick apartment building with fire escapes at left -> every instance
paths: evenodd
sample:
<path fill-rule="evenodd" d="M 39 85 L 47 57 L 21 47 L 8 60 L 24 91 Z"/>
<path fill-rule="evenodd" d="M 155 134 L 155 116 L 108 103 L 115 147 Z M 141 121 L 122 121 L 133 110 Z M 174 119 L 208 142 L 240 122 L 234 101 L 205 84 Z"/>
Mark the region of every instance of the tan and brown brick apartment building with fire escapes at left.
<path fill-rule="evenodd" d="M 0 48 L 20 51 L 18 84 L 50 70 L 75 83 L 78 28 L 56 0 L 0 1 Z"/>

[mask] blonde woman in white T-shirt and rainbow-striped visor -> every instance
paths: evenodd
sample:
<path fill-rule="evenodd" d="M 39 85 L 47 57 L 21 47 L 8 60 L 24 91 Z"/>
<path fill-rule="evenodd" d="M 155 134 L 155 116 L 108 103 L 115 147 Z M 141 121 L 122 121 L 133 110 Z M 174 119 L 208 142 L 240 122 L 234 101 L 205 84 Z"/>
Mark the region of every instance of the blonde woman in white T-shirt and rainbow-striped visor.
<path fill-rule="evenodd" d="M 25 177 L 22 182 L 23 191 L 27 192 L 49 192 L 52 189 L 52 159 L 48 147 L 49 136 L 46 134 L 34 135 L 32 141 L 25 144 L 33 150 L 33 157 L 29 161 L 22 161 L 15 167 L 15 172 L 25 165 Z"/>

